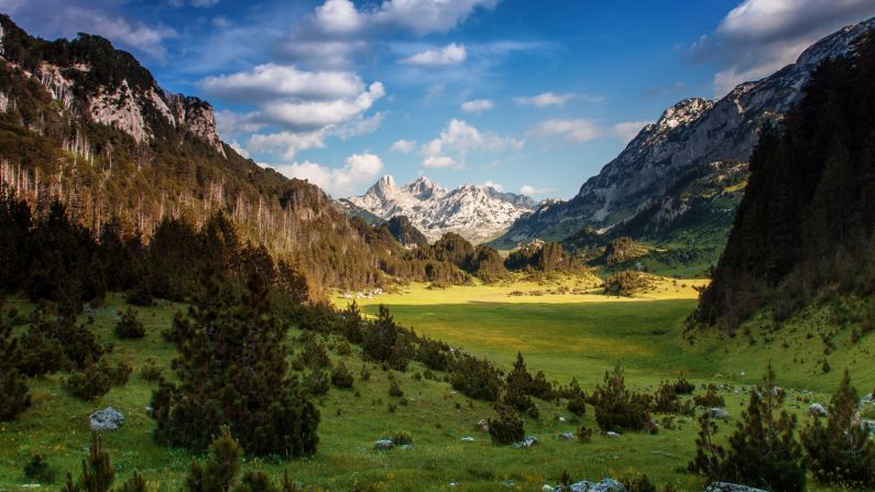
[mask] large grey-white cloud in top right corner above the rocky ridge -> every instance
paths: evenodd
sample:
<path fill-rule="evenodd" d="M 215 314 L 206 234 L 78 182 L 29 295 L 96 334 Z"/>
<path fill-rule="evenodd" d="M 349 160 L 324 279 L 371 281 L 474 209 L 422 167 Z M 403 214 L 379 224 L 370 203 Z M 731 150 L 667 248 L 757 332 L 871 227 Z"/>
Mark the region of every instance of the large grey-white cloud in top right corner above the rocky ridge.
<path fill-rule="evenodd" d="M 714 94 L 768 76 L 791 64 L 811 44 L 843 25 L 875 15 L 871 0 L 744 0 L 690 54 L 717 59 Z"/>

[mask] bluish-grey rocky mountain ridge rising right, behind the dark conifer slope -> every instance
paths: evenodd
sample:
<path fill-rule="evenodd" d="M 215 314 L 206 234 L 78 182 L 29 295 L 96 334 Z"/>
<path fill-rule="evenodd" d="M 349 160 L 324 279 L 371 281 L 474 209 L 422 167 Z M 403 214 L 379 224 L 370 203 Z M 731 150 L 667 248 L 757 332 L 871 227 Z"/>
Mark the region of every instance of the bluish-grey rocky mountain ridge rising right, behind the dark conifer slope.
<path fill-rule="evenodd" d="M 718 162 L 750 161 L 761 125 L 779 120 L 800 100 L 812 70 L 821 62 L 851 51 L 873 25 L 875 19 L 849 25 L 806 50 L 795 64 L 762 80 L 741 84 L 720 100 L 678 102 L 656 123 L 642 129 L 616 158 L 581 186 L 577 196 L 544 204 L 517 220 L 496 243 L 558 240 L 583 226 L 611 228 L 652 209 L 654 201 L 664 200 L 693 170 Z M 663 221 L 659 227 L 670 225 Z"/>

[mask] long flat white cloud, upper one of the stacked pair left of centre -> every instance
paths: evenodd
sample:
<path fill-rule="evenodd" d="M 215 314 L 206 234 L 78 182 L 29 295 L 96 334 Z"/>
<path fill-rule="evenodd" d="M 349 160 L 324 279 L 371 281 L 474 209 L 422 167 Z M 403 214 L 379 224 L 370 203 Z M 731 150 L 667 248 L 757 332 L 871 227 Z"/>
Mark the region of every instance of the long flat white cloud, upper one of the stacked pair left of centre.
<path fill-rule="evenodd" d="M 251 102 L 280 97 L 347 98 L 360 94 L 364 83 L 350 72 L 306 72 L 269 63 L 248 72 L 207 77 L 200 88 L 214 97 Z"/>

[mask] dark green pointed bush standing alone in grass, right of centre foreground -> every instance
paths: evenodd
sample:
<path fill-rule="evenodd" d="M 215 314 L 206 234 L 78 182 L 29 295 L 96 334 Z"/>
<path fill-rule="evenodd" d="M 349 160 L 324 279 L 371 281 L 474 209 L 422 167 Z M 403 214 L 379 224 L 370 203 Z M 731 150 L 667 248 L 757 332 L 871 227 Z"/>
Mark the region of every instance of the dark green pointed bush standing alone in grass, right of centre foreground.
<path fill-rule="evenodd" d="M 623 370 L 617 364 L 604 374 L 592 394 L 595 422 L 602 430 L 642 430 L 650 422 L 650 397 L 626 390 Z"/>

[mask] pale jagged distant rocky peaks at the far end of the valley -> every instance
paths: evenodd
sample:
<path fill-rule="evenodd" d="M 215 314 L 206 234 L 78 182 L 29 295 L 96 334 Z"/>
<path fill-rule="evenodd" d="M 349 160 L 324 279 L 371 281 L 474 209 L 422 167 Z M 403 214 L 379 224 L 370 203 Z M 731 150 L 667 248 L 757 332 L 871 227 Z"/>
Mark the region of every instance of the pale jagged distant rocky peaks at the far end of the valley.
<path fill-rule="evenodd" d="M 384 176 L 364 195 L 346 201 L 386 220 L 405 216 L 431 242 L 446 232 L 456 232 L 473 243 L 484 242 L 536 208 L 528 197 L 491 186 L 446 189 L 427 177 L 397 186 L 392 176 Z"/>

